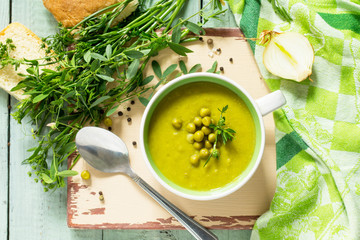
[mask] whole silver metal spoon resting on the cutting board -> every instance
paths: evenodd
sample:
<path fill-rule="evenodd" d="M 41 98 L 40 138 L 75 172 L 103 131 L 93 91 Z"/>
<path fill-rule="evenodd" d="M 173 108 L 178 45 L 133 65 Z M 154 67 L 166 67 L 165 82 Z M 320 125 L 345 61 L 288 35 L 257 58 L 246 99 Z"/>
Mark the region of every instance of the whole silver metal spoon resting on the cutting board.
<path fill-rule="evenodd" d="M 213 233 L 166 200 L 133 172 L 130 167 L 127 147 L 118 136 L 103 128 L 84 127 L 77 133 L 75 142 L 80 155 L 87 163 L 102 172 L 128 175 L 183 224 L 196 239 L 218 239 Z"/>

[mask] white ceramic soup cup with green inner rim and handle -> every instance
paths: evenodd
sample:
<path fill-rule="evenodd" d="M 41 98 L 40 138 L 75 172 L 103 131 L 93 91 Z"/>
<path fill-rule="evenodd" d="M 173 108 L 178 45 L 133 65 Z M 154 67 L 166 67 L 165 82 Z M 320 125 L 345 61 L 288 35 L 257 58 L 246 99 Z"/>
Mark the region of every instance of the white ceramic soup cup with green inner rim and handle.
<path fill-rule="evenodd" d="M 147 134 L 148 134 L 150 120 L 152 117 L 152 113 L 156 109 L 157 105 L 167 94 L 171 93 L 171 91 L 173 91 L 174 89 L 183 86 L 185 84 L 191 84 L 194 82 L 209 82 L 209 83 L 211 82 L 211 83 L 219 84 L 233 91 L 245 102 L 245 104 L 250 110 L 250 113 L 255 123 L 255 132 L 256 132 L 255 150 L 253 157 L 250 163 L 248 164 L 247 168 L 231 183 L 225 185 L 224 187 L 210 191 L 189 190 L 171 182 L 161 173 L 161 171 L 157 168 L 156 164 L 153 162 L 147 144 L 148 141 Z M 262 116 L 281 107 L 283 104 L 285 104 L 285 99 L 280 91 L 271 93 L 255 101 L 250 96 L 250 94 L 239 84 L 218 74 L 193 73 L 176 78 L 170 81 L 169 83 L 167 83 L 165 86 L 163 86 L 152 97 L 142 117 L 141 126 L 140 126 L 140 147 L 145 163 L 149 168 L 150 172 L 152 173 L 152 175 L 155 177 L 155 179 L 158 182 L 160 182 L 161 185 L 163 185 L 166 189 L 181 197 L 193 199 L 193 200 L 212 200 L 227 196 L 233 193 L 234 191 L 238 190 L 240 187 L 242 187 L 253 176 L 254 172 L 256 171 L 257 167 L 260 164 L 264 150 L 264 144 L 265 144 L 265 130 L 264 130 Z"/>

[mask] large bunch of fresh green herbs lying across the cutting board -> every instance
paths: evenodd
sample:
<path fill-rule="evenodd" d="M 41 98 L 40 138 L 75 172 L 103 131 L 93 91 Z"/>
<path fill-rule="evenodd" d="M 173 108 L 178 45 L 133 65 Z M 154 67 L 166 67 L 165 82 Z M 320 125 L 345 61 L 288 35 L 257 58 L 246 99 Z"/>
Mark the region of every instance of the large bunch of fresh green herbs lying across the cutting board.
<path fill-rule="evenodd" d="M 204 34 L 202 24 L 224 12 L 202 9 L 197 14 L 203 23 L 194 24 L 190 18 L 175 21 L 186 0 L 160 0 L 147 9 L 140 2 L 125 22 L 112 26 L 131 1 L 104 8 L 73 28 L 60 26 L 57 34 L 44 39 L 45 59 L 12 59 L 8 54 L 13 49 L 11 41 L 1 45 L 0 66 L 28 65 L 28 74 L 22 75 L 24 79 L 13 90 L 22 89 L 29 97 L 19 102 L 13 117 L 19 123 L 30 117 L 36 126 L 33 134 L 38 145 L 29 149 L 32 154 L 24 163 L 32 166 L 35 181 L 41 181 L 45 191 L 64 187 L 64 177 L 77 174 L 71 168 L 79 155 L 68 170 L 60 168 L 76 152 L 74 138 L 85 123 L 99 125 L 121 103 L 158 86 L 149 87 L 153 76 L 144 77 L 142 73 L 151 57 L 166 47 L 179 55 L 191 52 L 181 43 L 198 37 L 187 35 Z M 218 1 L 209 4 L 217 6 Z M 110 82 L 115 83 L 111 88 Z"/>

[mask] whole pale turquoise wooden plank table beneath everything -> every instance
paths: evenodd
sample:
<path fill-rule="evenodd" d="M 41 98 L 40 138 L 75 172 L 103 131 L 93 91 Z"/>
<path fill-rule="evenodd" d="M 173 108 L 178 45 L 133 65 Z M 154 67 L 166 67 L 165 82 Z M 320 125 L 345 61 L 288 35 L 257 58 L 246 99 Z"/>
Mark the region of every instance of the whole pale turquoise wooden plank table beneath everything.
<path fill-rule="evenodd" d="M 183 15 L 196 11 L 206 1 L 189 1 Z M 231 14 L 208 27 L 235 27 Z M 42 0 L 1 0 L 0 28 L 20 22 L 38 36 L 56 30 L 57 23 Z M 19 125 L 12 117 L 17 100 L 0 91 L 0 239 L 193 239 L 185 230 L 73 230 L 66 223 L 66 189 L 44 193 L 40 184 L 29 178 L 29 167 L 21 162 L 34 143 L 25 134 L 30 124 Z M 214 230 L 219 239 L 249 239 L 251 230 Z"/>

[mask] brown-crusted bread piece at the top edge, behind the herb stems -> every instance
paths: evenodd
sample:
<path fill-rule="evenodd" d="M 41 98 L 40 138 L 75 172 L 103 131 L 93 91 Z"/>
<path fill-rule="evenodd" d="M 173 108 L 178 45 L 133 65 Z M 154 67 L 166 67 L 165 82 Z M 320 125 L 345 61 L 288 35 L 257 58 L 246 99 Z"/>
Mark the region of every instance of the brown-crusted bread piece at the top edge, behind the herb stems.
<path fill-rule="evenodd" d="M 85 17 L 124 0 L 43 0 L 44 6 L 64 27 L 73 27 Z M 115 19 L 119 23 L 136 10 L 138 0 L 130 2 L 124 11 Z"/>

